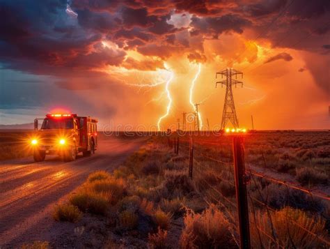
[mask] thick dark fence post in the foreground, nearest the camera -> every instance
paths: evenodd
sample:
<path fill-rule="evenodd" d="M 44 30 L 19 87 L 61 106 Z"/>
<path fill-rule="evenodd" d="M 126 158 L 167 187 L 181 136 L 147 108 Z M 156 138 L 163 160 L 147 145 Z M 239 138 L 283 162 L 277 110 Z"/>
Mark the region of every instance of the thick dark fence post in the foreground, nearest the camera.
<path fill-rule="evenodd" d="M 246 195 L 246 183 L 248 177 L 245 174 L 243 137 L 233 137 L 234 172 L 237 199 L 237 212 L 239 220 L 239 248 L 249 249 L 250 228 L 249 210 Z"/>

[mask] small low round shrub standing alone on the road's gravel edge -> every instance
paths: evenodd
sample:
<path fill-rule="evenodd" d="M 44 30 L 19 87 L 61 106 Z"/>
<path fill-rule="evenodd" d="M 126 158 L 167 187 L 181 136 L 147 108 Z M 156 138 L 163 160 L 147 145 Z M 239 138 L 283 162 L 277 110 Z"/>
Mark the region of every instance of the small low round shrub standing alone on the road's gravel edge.
<path fill-rule="evenodd" d="M 54 208 L 53 218 L 56 221 L 77 222 L 81 218 L 81 211 L 72 204 L 59 204 Z"/>

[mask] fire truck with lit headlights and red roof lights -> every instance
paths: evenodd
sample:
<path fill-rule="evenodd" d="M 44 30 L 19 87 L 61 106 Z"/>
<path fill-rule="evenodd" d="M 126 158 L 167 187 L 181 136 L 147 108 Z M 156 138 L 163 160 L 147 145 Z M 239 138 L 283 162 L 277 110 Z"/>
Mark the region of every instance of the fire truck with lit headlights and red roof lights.
<path fill-rule="evenodd" d="M 90 156 L 97 149 L 97 119 L 77 114 L 47 114 L 31 139 L 33 159 L 45 160 L 46 155 L 59 155 L 64 161 L 76 159 L 78 153 Z"/>

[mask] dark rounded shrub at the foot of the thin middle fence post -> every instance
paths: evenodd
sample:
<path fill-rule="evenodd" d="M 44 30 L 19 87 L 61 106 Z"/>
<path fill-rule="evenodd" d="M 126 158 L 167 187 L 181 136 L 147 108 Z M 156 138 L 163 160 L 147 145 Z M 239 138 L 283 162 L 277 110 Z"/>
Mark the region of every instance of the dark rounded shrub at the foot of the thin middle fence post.
<path fill-rule="evenodd" d="M 164 178 L 164 186 L 167 188 L 168 193 L 173 193 L 175 190 L 180 190 L 183 195 L 186 195 L 195 190 L 194 184 L 191 179 L 189 179 L 187 172 L 166 170 Z"/>

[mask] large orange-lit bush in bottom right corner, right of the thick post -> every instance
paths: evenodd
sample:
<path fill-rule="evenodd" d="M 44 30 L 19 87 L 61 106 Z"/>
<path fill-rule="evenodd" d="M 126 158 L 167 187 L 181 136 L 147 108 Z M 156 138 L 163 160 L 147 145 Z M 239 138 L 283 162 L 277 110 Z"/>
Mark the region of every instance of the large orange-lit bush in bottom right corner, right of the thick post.
<path fill-rule="evenodd" d="M 327 232 L 324 230 L 325 222 L 320 217 L 310 217 L 304 211 L 292 208 L 276 211 L 271 214 L 271 217 L 274 234 L 276 234 L 276 239 L 279 245 L 281 245 L 280 247 L 322 248 L 322 242 L 305 231 L 305 229 L 308 229 L 313 234 L 317 234 L 317 236 L 324 239 L 327 236 Z M 272 227 L 266 212 L 256 213 L 256 224 L 257 227 L 266 234 L 272 234 Z M 253 248 L 260 248 L 260 243 L 263 244 L 264 248 L 269 247 L 269 243 L 274 243 L 269 240 L 269 237 L 265 236 L 264 233 L 260 233 L 260 242 L 257 227 L 256 225 L 251 225 L 251 241 Z M 305 227 L 305 229 L 301 227 Z M 276 246 L 276 243 L 272 246 Z M 272 248 L 272 246 L 269 248 Z"/>

